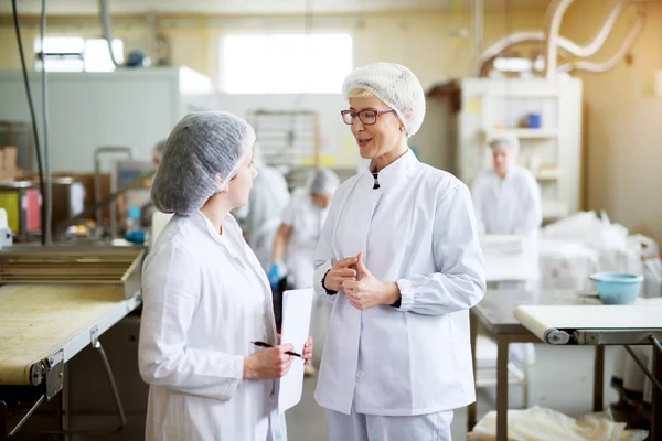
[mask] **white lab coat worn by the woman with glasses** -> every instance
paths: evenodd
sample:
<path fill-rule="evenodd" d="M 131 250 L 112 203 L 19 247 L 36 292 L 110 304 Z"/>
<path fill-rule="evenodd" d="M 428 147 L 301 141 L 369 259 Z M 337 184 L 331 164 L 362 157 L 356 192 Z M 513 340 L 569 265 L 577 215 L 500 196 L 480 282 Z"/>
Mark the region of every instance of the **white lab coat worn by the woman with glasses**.
<path fill-rule="evenodd" d="M 335 294 L 314 394 L 350 415 L 414 416 L 476 399 L 469 309 L 484 295 L 471 197 L 449 173 L 408 150 L 380 172 L 345 181 L 331 203 L 316 251 L 313 288 L 332 263 L 364 252 L 367 269 L 396 282 L 402 305 L 364 311 Z"/>

